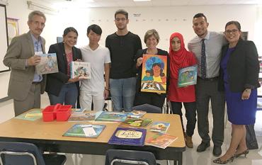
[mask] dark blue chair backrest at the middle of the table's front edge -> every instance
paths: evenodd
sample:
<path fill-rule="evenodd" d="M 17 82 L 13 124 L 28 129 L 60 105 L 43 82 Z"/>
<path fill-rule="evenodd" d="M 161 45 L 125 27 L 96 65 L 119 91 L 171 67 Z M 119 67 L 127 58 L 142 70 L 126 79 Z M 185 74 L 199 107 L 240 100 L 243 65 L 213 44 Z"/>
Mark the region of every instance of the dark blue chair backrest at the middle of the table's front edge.
<path fill-rule="evenodd" d="M 108 149 L 105 165 L 156 165 L 156 158 L 152 152 Z"/>

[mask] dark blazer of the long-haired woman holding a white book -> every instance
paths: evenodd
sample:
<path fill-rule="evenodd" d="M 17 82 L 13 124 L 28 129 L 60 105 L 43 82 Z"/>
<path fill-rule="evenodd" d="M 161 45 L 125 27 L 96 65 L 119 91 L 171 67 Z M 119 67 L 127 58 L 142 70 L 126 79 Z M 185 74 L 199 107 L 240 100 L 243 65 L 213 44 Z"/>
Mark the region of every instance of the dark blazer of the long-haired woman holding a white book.
<path fill-rule="evenodd" d="M 73 61 L 76 59 L 82 59 L 81 50 L 76 47 L 72 47 Z M 65 55 L 64 43 L 59 42 L 54 45 L 50 45 L 48 53 L 57 54 L 58 73 L 47 74 L 47 85 L 45 91 L 49 94 L 59 96 L 62 86 L 70 79 L 67 76 L 67 57 Z M 75 83 L 79 90 L 79 82 Z"/>

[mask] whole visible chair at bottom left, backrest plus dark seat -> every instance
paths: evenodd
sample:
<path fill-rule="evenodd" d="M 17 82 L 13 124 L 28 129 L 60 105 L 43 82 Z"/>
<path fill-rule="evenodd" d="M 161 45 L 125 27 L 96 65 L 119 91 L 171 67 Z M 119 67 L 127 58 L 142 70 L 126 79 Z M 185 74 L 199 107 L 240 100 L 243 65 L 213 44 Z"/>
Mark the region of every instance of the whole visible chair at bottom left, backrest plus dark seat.
<path fill-rule="evenodd" d="M 0 142 L 1 165 L 63 165 L 67 158 L 59 154 L 41 154 L 35 144 Z"/>

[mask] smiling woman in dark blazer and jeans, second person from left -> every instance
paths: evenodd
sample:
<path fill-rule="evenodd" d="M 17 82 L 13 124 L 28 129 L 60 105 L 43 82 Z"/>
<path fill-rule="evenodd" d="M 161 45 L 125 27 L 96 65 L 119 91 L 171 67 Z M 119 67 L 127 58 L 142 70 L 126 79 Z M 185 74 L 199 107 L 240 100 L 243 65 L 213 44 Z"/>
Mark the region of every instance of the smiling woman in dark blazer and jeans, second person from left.
<path fill-rule="evenodd" d="M 47 74 L 45 91 L 48 93 L 50 105 L 57 103 L 76 106 L 79 96 L 79 78 L 70 78 L 70 64 L 82 59 L 81 51 L 74 47 L 78 33 L 75 28 L 64 30 L 63 42 L 50 45 L 48 53 L 57 54 L 58 73 Z"/>

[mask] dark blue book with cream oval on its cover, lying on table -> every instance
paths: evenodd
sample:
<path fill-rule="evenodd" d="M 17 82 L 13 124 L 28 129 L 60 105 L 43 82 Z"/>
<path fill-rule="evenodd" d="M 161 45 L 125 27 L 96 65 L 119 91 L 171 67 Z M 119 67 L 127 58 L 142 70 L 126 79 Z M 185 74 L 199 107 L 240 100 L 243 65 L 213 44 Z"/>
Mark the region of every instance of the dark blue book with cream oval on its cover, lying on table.
<path fill-rule="evenodd" d="M 108 144 L 144 146 L 146 135 L 142 128 L 117 127 Z"/>

